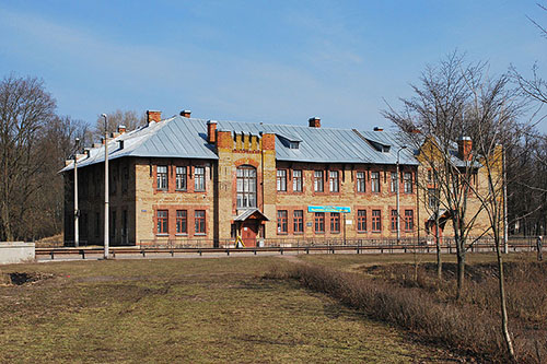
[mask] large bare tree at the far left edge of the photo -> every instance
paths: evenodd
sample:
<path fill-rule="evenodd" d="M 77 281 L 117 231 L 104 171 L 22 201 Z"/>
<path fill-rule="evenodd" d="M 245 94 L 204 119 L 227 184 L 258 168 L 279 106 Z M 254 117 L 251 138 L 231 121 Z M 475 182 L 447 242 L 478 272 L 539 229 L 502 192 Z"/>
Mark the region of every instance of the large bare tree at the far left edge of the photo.
<path fill-rule="evenodd" d="M 36 78 L 10 75 L 0 82 L 0 239 L 21 236 L 21 221 L 40 188 L 36 178 L 48 157 L 36 148 L 37 136 L 55 108 L 55 99 Z"/>

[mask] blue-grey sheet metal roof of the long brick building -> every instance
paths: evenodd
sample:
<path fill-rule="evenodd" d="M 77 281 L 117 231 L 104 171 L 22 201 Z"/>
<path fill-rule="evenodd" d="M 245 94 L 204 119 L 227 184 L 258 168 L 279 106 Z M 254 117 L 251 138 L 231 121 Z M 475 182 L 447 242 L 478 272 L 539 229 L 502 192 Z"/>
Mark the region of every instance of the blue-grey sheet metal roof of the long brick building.
<path fill-rule="evenodd" d="M 207 119 L 174 116 L 160 122 L 126 132 L 108 140 L 108 158 L 123 156 L 185 157 L 218 160 L 214 145 L 207 142 Z M 352 129 L 311 128 L 307 126 L 274 125 L 263 122 L 217 121 L 218 130 L 234 133 L 276 134 L 276 160 L 309 163 L 362 163 L 395 164 L 400 151 L 403 165 L 418 165 L 416 150 L 400 133 L 389 131 L 357 131 Z M 291 149 L 280 138 L 296 141 L 298 149 Z M 120 148 L 118 141 L 124 141 Z M 374 143 L 389 146 L 379 151 Z M 104 145 L 91 149 L 89 157 L 79 160 L 79 166 L 104 162 Z M 69 164 L 61 172 L 73 168 Z"/>

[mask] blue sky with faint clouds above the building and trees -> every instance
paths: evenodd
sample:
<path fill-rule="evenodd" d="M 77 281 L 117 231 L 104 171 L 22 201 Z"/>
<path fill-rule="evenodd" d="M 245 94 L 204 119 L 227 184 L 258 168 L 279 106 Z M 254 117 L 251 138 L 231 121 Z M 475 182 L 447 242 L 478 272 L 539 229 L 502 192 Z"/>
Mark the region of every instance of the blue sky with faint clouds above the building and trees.
<path fill-rule="evenodd" d="M 426 64 L 537 61 L 536 1 L 5 1 L 0 77 L 43 78 L 58 111 L 94 122 L 120 109 L 189 108 L 207 119 L 389 127 Z M 547 131 L 547 121 L 539 129 Z"/>

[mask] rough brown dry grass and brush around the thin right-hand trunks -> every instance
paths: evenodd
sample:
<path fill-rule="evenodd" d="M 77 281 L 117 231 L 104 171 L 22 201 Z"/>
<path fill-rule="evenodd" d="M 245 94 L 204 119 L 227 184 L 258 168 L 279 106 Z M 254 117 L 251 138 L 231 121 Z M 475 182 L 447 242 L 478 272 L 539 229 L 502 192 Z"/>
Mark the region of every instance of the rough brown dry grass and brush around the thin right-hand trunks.
<path fill-rule="evenodd" d="M 496 256 L 467 256 L 466 290 L 455 300 L 455 263 L 443 256 L 442 281 L 434 256 L 329 255 L 302 257 L 309 265 L 286 275 L 379 320 L 489 361 L 504 361 L 500 333 Z M 446 259 L 447 258 L 447 259 Z M 547 357 L 547 263 L 533 254 L 505 256 L 510 331 L 521 362 Z M 282 274 L 281 274 L 282 275 Z"/>

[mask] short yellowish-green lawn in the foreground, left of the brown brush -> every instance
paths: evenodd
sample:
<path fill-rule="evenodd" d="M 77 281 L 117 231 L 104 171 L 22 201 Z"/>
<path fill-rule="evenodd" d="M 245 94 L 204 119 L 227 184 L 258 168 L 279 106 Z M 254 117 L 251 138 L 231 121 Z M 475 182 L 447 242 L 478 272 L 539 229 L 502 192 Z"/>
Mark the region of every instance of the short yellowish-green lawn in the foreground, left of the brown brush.
<path fill-rule="evenodd" d="M 3 266 L 0 362 L 414 362 L 444 352 L 294 281 L 279 258 Z M 21 277 L 21 275 L 20 275 Z M 4 280 L 8 281 L 8 280 Z"/>

